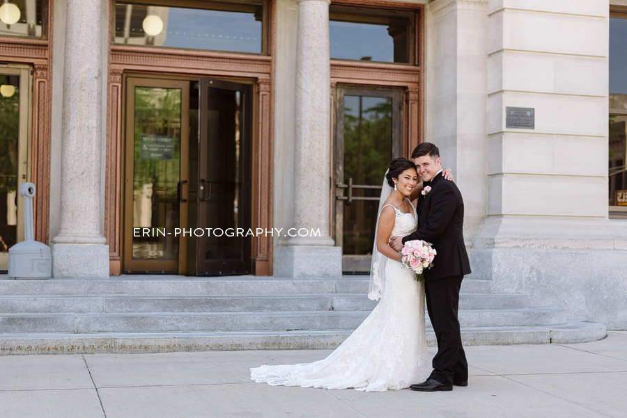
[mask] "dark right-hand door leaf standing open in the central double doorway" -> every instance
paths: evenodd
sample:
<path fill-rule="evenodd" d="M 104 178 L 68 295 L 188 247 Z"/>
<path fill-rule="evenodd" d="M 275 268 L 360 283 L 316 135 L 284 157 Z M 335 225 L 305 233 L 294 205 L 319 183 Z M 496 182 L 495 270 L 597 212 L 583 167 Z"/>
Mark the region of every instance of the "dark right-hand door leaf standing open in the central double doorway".
<path fill-rule="evenodd" d="M 190 202 L 197 217 L 189 222 L 204 233 L 190 240 L 188 269 L 196 275 L 250 273 L 251 236 L 245 232 L 251 227 L 252 86 L 201 79 L 199 115 L 198 178 L 192 181 L 198 193 Z"/>

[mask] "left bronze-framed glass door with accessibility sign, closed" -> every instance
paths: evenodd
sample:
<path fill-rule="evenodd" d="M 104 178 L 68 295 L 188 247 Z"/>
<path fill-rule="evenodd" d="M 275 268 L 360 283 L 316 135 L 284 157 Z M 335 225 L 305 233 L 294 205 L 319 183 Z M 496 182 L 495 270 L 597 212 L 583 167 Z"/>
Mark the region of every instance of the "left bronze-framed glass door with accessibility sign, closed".
<path fill-rule="evenodd" d="M 189 81 L 126 81 L 123 269 L 183 274 Z"/>

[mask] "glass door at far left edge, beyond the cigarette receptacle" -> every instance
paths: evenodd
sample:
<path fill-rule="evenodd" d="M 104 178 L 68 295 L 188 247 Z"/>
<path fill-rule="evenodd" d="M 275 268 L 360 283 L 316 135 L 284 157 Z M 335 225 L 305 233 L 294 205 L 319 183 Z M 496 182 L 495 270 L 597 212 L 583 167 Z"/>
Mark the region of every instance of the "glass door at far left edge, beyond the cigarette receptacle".
<path fill-rule="evenodd" d="M 24 207 L 18 190 L 29 181 L 30 69 L 0 65 L 0 271 L 8 248 L 24 240 Z"/>

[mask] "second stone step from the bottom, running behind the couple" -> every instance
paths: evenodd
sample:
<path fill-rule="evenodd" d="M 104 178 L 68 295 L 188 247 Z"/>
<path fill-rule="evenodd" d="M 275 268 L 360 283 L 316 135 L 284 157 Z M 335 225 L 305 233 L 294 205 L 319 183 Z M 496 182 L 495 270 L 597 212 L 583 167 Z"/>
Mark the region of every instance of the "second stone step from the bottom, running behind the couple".
<path fill-rule="evenodd" d="M 0 314 L 1 333 L 354 330 L 367 311 Z M 460 310 L 463 327 L 559 325 L 564 310 Z M 428 316 L 426 326 L 431 327 Z"/>

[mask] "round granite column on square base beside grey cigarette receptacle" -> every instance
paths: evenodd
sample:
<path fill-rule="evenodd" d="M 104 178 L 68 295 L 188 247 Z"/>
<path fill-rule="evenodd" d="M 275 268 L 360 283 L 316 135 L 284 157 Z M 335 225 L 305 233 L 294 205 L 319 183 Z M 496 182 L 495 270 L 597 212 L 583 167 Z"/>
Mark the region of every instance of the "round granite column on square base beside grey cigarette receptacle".
<path fill-rule="evenodd" d="M 61 214 L 52 239 L 55 278 L 109 277 L 102 235 L 101 0 L 68 0 L 65 13 Z"/>

